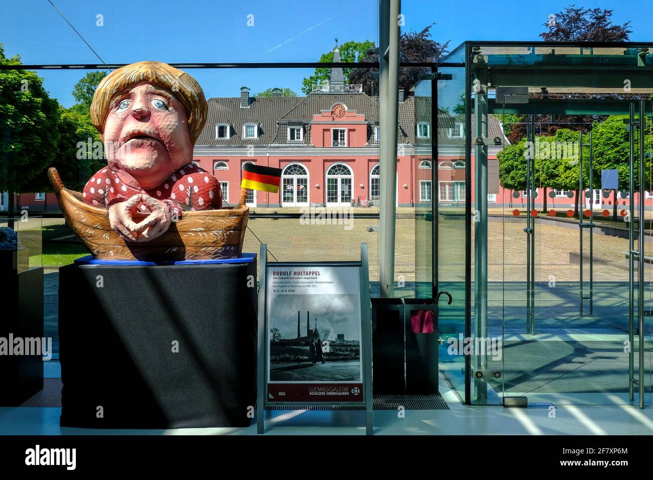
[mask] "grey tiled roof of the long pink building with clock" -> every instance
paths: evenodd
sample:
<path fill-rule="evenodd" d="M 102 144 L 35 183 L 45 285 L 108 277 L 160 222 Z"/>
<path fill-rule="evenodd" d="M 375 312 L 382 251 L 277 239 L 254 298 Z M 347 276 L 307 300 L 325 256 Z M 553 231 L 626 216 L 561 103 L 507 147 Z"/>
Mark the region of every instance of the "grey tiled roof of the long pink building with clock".
<path fill-rule="evenodd" d="M 365 93 L 311 93 L 306 97 L 258 97 L 250 99 L 249 108 L 240 108 L 240 97 L 213 98 L 208 100 L 208 120 L 197 142 L 198 146 L 242 146 L 242 145 L 274 145 L 289 144 L 287 139 L 288 123 L 304 125 L 304 140 L 301 144 L 310 145 L 310 135 L 306 124 L 313 120 L 313 115 L 323 110 L 330 110 L 336 103 L 343 103 L 347 110 L 355 110 L 364 114 L 367 121 L 379 120 L 379 99 Z M 398 142 L 412 145 L 428 145 L 430 138 L 417 138 L 415 125 L 419 121 L 431 120 L 430 97 L 406 97 L 399 104 Z M 462 145 L 464 138 L 451 138 L 449 128 L 454 123 L 464 123 L 464 116 L 441 113 L 439 116 L 438 144 Z M 231 138 L 220 140 L 215 138 L 215 125 L 229 123 Z M 259 137 L 243 138 L 243 125 L 257 123 Z M 472 115 L 472 136 L 473 115 Z M 368 136 L 372 129 L 368 130 Z M 488 136 L 503 135 L 501 125 L 494 116 L 489 116 Z M 294 143 L 294 142 L 293 142 Z"/>

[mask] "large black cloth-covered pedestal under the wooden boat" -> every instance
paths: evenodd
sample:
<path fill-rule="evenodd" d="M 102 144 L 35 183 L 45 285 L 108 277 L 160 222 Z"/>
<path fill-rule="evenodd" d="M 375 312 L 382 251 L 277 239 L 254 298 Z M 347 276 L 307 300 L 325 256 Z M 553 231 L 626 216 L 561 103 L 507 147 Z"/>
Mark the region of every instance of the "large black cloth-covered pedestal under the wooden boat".
<path fill-rule="evenodd" d="M 256 263 L 59 269 L 61 425 L 247 426 Z"/>

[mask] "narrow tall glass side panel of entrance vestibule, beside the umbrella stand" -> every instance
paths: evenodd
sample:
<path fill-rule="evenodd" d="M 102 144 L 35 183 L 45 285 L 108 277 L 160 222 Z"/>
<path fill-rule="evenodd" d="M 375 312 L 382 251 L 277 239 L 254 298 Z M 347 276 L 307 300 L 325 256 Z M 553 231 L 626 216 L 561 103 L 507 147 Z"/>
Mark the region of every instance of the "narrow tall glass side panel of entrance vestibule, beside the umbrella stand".
<path fill-rule="evenodd" d="M 462 61 L 464 45 L 449 56 Z M 444 341 L 439 350 L 440 370 L 456 394 L 465 398 L 466 300 L 470 291 L 466 277 L 466 239 L 470 234 L 467 202 L 471 199 L 470 163 L 466 157 L 468 131 L 466 124 L 466 82 L 464 67 L 438 69 L 438 137 L 434 157 L 436 195 L 435 226 L 437 248 L 438 291 L 451 293 L 439 301 L 438 325 Z"/>

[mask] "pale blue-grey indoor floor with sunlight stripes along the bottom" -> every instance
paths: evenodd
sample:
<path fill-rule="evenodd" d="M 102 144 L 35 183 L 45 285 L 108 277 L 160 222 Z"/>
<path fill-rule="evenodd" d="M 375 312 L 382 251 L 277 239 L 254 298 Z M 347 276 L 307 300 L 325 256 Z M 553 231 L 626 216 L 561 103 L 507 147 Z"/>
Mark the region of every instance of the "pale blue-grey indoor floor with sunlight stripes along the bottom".
<path fill-rule="evenodd" d="M 57 375 L 58 362 L 46 367 Z M 503 408 L 464 406 L 441 377 L 440 391 L 449 410 L 375 411 L 375 435 L 651 435 L 653 408 L 559 407 Z M 22 435 L 255 435 L 247 428 L 183 428 L 178 430 L 90 430 L 61 428 L 59 408 L 0 408 L 0 434 Z M 269 435 L 364 435 L 363 411 L 266 411 Z"/>

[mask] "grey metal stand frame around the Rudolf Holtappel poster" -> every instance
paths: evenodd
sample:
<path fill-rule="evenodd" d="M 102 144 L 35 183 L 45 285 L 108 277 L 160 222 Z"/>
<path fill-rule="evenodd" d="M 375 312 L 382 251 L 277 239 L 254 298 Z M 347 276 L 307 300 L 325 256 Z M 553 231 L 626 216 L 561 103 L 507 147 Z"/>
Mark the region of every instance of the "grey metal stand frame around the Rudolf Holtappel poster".
<path fill-rule="evenodd" d="M 268 373 L 266 359 L 268 356 L 268 292 L 267 292 L 267 267 L 268 266 L 356 266 L 358 267 L 358 282 L 360 286 L 360 360 L 362 362 L 362 402 L 310 402 L 315 406 L 364 406 L 366 434 L 374 434 L 374 410 L 372 405 L 372 317 L 370 307 L 370 278 L 368 270 L 368 246 L 360 244 L 360 261 L 342 262 L 268 262 L 268 248 L 261 244 L 261 265 L 259 266 L 259 331 L 258 331 L 258 357 L 257 357 L 257 433 L 265 433 L 265 407 L 267 402 Z M 274 406 L 304 406 L 307 402 L 274 402 Z"/>

